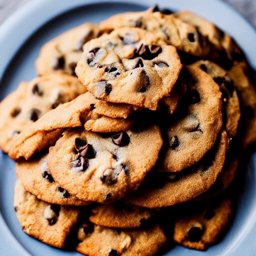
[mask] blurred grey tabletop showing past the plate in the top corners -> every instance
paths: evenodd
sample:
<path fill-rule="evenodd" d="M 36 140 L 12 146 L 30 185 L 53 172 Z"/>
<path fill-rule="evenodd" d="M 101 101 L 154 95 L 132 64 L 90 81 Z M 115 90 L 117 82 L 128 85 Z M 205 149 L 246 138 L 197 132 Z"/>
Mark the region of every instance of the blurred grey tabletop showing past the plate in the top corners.
<path fill-rule="evenodd" d="M 28 1 L 36 0 L 0 0 L 0 23 L 3 22 L 13 11 L 26 4 Z M 54 0 L 53 0 L 54 1 Z M 193 0 L 196 4 L 196 0 Z M 224 0 L 243 16 L 245 16 L 256 27 L 256 0 Z M 156 1 L 157 2 L 157 1 Z"/>

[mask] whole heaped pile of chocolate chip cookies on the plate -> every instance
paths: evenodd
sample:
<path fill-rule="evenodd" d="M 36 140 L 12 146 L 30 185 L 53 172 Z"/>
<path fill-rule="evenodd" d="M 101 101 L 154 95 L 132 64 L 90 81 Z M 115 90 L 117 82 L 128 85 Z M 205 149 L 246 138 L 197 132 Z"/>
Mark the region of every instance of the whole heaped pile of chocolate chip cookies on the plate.
<path fill-rule="evenodd" d="M 154 6 L 64 32 L 36 69 L 0 103 L 24 232 L 88 256 L 216 241 L 256 140 L 256 91 L 230 36 Z"/>

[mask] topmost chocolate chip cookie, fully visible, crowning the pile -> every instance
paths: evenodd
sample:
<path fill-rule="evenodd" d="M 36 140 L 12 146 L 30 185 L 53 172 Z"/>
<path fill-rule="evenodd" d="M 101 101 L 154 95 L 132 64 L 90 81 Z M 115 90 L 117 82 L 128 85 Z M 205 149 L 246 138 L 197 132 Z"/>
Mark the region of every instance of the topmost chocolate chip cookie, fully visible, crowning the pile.
<path fill-rule="evenodd" d="M 180 69 L 175 47 L 146 30 L 120 28 L 84 44 L 75 72 L 97 99 L 155 110 Z"/>

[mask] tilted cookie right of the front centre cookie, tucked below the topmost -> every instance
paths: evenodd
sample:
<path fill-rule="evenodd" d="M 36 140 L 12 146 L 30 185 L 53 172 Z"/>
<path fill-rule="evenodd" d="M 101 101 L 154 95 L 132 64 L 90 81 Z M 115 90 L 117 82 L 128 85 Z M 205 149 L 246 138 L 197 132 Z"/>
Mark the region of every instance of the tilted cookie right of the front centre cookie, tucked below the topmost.
<path fill-rule="evenodd" d="M 158 167 L 160 172 L 180 171 L 199 161 L 212 148 L 222 126 L 219 86 L 197 66 L 187 66 L 186 71 L 184 109 L 167 128 L 168 144 Z"/>

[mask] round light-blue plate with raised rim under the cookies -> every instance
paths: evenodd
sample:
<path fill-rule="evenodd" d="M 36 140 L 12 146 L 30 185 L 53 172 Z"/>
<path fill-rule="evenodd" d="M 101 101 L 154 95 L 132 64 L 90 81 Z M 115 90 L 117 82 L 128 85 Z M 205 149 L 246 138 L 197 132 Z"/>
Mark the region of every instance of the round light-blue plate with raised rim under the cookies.
<path fill-rule="evenodd" d="M 256 33 L 238 13 L 220 0 L 34 0 L 20 8 L 0 27 L 0 99 L 21 80 L 36 76 L 34 60 L 40 47 L 59 33 L 84 22 L 124 11 L 144 10 L 155 2 L 173 10 L 188 9 L 213 21 L 240 44 L 256 68 Z M 237 210 L 223 239 L 207 252 L 173 247 L 165 255 L 256 255 L 256 154 L 244 166 L 244 186 L 237 196 Z M 62 251 L 22 232 L 13 209 L 14 162 L 0 153 L 0 255 L 80 255 Z"/>

